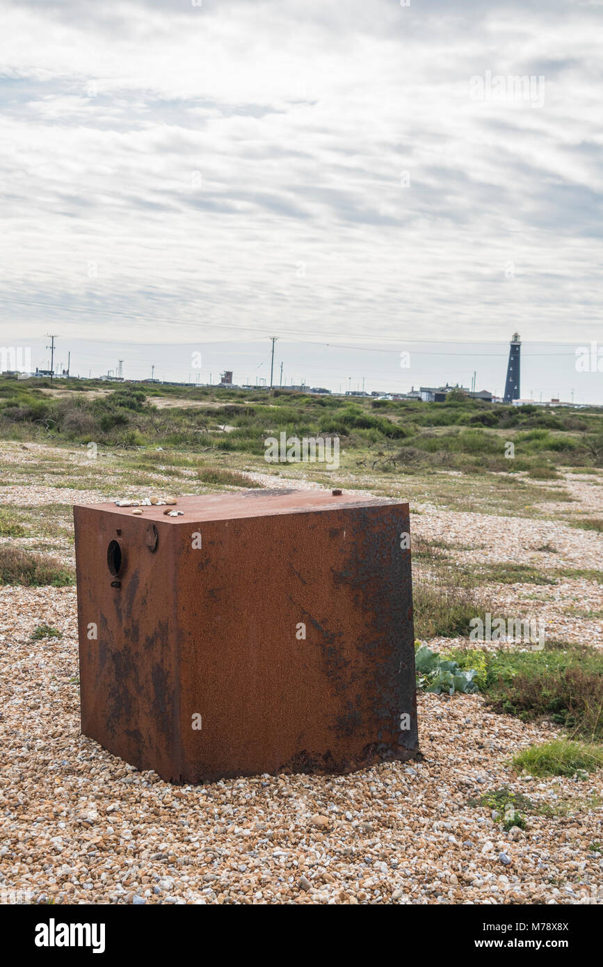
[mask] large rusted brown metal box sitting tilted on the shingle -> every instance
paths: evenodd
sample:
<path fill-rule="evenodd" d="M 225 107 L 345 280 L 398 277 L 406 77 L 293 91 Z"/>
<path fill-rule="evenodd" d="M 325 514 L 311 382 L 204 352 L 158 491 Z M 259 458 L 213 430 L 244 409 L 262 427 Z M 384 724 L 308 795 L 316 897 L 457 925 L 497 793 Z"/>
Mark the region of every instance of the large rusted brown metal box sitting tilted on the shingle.
<path fill-rule="evenodd" d="M 82 732 L 171 782 L 413 757 L 408 504 L 252 490 L 173 509 L 74 508 Z"/>

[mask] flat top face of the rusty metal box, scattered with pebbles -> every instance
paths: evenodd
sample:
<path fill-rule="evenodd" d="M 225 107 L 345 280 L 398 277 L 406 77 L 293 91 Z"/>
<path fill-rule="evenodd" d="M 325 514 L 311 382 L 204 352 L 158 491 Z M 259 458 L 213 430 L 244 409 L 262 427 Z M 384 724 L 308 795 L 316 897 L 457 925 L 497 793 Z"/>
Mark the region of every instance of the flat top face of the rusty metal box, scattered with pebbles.
<path fill-rule="evenodd" d="M 389 500 L 382 497 L 365 497 L 355 493 L 333 495 L 330 490 L 245 490 L 238 493 L 211 493 L 203 496 L 178 497 L 177 504 L 142 507 L 141 514 L 132 514 L 133 507 L 117 507 L 115 504 L 77 504 L 76 507 L 102 513 L 118 513 L 135 516 L 141 520 L 164 520 L 169 523 L 185 523 L 187 520 L 232 520 L 237 517 L 262 517 L 275 513 L 307 513 L 310 511 L 334 511 L 342 508 L 380 507 L 397 504 L 408 506 L 407 501 Z M 184 515 L 170 517 L 166 512 L 184 511 Z"/>

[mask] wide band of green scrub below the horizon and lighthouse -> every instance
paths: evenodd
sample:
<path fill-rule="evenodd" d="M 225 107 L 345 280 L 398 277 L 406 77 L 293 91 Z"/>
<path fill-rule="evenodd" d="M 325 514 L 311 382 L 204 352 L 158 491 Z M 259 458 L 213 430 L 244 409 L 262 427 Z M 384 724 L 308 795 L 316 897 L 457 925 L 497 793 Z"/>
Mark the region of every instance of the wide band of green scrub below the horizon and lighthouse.
<path fill-rule="evenodd" d="M 52 395 L 48 391 L 52 389 Z M 175 405 L 158 407 L 156 402 Z M 233 427 L 225 431 L 224 426 Z M 504 406 L 451 392 L 444 403 L 221 390 L 100 380 L 0 379 L 0 436 L 99 447 L 265 453 L 267 436 L 338 435 L 373 471 L 456 470 L 555 481 L 559 467 L 603 466 L 603 414 Z M 515 457 L 507 459 L 512 442 Z M 546 495 L 547 486 L 538 489 Z M 544 496 L 541 499 L 545 499 Z"/>

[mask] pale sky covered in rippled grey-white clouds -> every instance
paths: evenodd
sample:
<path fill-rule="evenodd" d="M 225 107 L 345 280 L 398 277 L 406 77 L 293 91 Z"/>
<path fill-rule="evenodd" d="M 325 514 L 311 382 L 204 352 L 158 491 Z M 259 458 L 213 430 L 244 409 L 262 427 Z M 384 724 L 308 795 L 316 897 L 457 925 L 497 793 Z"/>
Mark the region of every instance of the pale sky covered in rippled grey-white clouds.
<path fill-rule="evenodd" d="M 575 365 L 602 28 L 601 0 L 3 0 L 0 344 L 243 383 L 277 336 L 286 382 L 496 393 L 517 330 L 523 396 L 603 402 Z"/>

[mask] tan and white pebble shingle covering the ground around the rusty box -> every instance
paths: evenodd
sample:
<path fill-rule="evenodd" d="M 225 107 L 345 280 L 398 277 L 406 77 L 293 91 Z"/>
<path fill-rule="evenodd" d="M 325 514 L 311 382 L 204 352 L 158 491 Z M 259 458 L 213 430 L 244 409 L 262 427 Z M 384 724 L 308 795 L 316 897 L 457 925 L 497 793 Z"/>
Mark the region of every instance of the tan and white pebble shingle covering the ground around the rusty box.
<path fill-rule="evenodd" d="M 256 473 L 271 485 L 291 485 Z M 570 482 L 583 488 L 582 482 Z M 301 482 L 299 485 L 316 485 Z M 56 501 L 38 485 L 11 503 Z M 60 490 L 61 503 L 72 491 Z M 78 501 L 96 500 L 77 491 Z M 415 533 L 471 542 L 504 560 L 600 567 L 600 535 L 551 521 L 429 511 Z M 527 537 L 529 535 L 529 537 Z M 519 549 L 517 549 L 519 548 Z M 466 553 L 459 551 L 459 554 Z M 540 565 L 542 566 L 542 565 Z M 509 603 L 533 586 L 501 589 Z M 555 634 L 603 645 L 568 602 L 601 607 L 588 580 L 532 601 Z M 258 776 L 190 787 L 139 773 L 79 732 L 75 589 L 0 587 L 0 894 L 4 902 L 431 904 L 601 902 L 603 779 L 518 777 L 518 749 L 557 735 L 489 711 L 479 695 L 419 693 L 421 761 L 348 776 Z M 60 632 L 32 640 L 48 625 Z M 434 640 L 432 647 L 451 642 Z M 503 832 L 484 793 L 507 787 L 537 806 Z M 13 897 L 13 899 L 12 899 Z"/>

